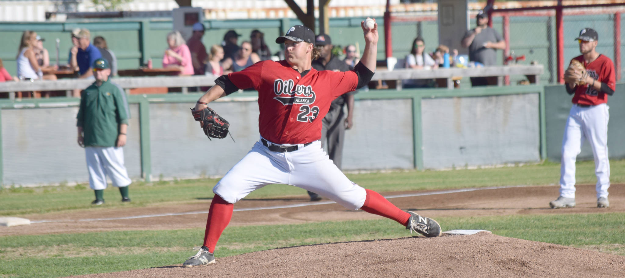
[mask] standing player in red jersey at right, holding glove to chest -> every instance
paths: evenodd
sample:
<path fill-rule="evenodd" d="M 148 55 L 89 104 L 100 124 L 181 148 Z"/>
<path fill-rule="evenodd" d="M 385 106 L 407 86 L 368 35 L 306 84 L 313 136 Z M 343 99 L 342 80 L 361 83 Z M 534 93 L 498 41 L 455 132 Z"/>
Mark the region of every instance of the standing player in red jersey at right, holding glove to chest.
<path fill-rule="evenodd" d="M 609 107 L 607 95 L 616 89 L 614 64 L 605 55 L 596 51 L 599 36 L 590 28 L 579 32 L 579 55 L 571 60 L 581 62 L 586 73 L 565 74 L 566 92 L 575 94 L 566 120 L 562 138 L 562 165 L 560 169 L 560 196 L 549 203 L 551 208 L 572 208 L 575 206 L 575 161 L 581 152 L 584 139 L 588 140 L 594 153 L 597 176 L 597 208 L 607 208 L 607 188 L 610 187 L 610 162 L 607 158 L 607 121 Z"/>

